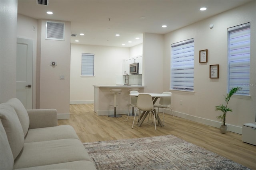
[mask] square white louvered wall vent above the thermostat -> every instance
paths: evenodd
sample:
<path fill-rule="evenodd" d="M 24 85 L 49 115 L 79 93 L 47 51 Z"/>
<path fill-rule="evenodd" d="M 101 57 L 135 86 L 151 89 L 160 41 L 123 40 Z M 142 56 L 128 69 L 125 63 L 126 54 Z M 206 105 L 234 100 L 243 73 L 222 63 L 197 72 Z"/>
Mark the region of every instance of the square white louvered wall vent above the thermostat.
<path fill-rule="evenodd" d="M 65 40 L 65 23 L 46 21 L 45 39 Z"/>

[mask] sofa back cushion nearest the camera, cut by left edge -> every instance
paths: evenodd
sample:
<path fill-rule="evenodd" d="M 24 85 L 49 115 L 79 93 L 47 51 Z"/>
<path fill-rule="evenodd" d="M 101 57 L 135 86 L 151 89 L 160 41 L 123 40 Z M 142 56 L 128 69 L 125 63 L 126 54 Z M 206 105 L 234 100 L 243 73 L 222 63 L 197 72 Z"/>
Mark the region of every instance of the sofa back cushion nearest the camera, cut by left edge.
<path fill-rule="evenodd" d="M 0 121 L 1 123 L 1 121 Z M 0 129 L 0 169 L 1 170 L 12 170 L 13 168 L 13 156 L 10 148 L 6 132 L 1 123 Z"/>

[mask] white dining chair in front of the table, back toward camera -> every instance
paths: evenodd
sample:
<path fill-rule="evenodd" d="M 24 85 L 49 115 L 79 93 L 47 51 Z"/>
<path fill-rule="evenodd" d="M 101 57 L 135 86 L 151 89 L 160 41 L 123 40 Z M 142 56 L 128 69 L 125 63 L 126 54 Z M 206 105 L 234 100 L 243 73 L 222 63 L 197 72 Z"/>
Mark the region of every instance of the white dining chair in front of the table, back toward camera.
<path fill-rule="evenodd" d="M 137 123 L 140 122 L 140 112 L 141 111 L 149 111 L 150 113 L 153 112 L 155 130 L 156 130 L 156 119 L 155 119 L 155 111 L 154 111 L 154 104 L 153 104 L 152 96 L 150 94 L 139 94 L 138 99 L 137 99 L 137 108 L 138 108 Z M 132 128 L 134 125 L 137 111 L 135 112 L 135 116 L 134 116 L 133 123 L 132 123 Z"/>

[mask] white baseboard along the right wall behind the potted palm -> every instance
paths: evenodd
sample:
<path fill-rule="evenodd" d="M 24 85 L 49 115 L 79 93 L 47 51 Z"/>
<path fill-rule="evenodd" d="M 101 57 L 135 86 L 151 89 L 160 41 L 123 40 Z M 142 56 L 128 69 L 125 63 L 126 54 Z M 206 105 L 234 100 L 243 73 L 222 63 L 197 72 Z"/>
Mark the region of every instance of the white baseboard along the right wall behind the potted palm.
<path fill-rule="evenodd" d="M 171 114 L 171 111 L 165 109 L 164 113 Z M 191 121 L 195 121 L 195 122 L 202 123 L 204 125 L 209 125 L 209 126 L 216 127 L 216 128 L 220 128 L 220 125 L 222 124 L 219 121 L 204 119 L 202 117 L 188 115 L 186 113 L 181 113 L 181 112 L 178 112 L 178 111 L 173 111 L 173 113 L 177 117 L 181 117 L 181 118 L 184 118 L 184 119 L 188 119 L 188 120 L 191 120 Z M 242 127 L 238 127 L 238 126 L 235 126 L 235 125 L 229 125 L 229 124 L 226 124 L 226 125 L 228 126 L 228 131 L 238 133 L 238 134 L 242 135 Z"/>

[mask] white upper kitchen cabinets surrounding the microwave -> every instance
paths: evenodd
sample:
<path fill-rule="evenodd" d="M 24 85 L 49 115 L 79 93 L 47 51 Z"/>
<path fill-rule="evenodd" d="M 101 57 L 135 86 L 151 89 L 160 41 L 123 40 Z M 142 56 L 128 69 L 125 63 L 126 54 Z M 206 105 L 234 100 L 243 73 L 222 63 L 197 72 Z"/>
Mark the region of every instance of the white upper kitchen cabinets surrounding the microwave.
<path fill-rule="evenodd" d="M 130 74 L 130 64 L 139 63 L 139 74 L 142 74 L 142 55 L 123 60 L 123 74 Z"/>

